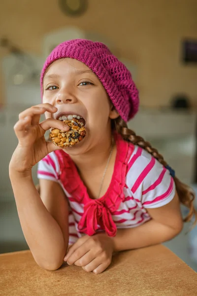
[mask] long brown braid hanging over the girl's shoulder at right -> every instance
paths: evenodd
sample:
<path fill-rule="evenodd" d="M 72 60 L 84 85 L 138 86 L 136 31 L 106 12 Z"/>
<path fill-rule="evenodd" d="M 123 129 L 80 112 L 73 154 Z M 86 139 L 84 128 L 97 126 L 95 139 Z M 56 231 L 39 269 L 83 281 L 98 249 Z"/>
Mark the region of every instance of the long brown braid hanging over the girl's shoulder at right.
<path fill-rule="evenodd" d="M 152 148 L 149 142 L 146 142 L 142 137 L 137 136 L 131 129 L 128 128 L 126 122 L 121 118 L 118 117 L 114 121 L 112 121 L 112 128 L 116 129 L 119 134 L 122 135 L 123 139 L 126 141 L 130 141 L 134 145 L 138 145 L 141 148 L 145 149 L 151 155 L 153 155 L 164 167 L 167 163 L 164 160 L 164 157 L 158 152 L 157 149 Z M 195 222 L 197 223 L 197 212 L 194 208 L 194 199 L 195 193 L 188 185 L 183 184 L 179 181 L 177 177 L 174 177 L 174 182 L 176 185 L 176 191 L 179 196 L 180 202 L 189 208 L 189 214 L 187 217 L 183 219 L 184 222 L 189 222 L 192 220 L 193 216 L 195 216 Z"/>

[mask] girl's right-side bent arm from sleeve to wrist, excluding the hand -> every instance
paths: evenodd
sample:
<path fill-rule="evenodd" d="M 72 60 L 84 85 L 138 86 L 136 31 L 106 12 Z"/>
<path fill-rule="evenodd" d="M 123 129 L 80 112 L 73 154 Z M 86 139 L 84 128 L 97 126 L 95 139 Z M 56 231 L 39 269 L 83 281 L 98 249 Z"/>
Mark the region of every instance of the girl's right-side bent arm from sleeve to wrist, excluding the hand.
<path fill-rule="evenodd" d="M 151 221 L 134 228 L 117 230 L 116 236 L 111 238 L 115 252 L 159 244 L 181 232 L 183 221 L 177 193 L 167 205 L 147 209 L 147 212 Z"/>

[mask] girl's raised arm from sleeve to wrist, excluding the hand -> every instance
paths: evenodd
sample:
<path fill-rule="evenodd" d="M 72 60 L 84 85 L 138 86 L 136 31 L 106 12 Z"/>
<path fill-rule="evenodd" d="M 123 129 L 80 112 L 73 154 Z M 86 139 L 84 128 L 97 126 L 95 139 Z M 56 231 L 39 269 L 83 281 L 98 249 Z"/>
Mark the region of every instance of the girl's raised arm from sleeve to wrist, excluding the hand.
<path fill-rule="evenodd" d="M 23 233 L 35 261 L 44 269 L 58 269 L 68 244 L 68 205 L 61 186 L 40 180 L 39 195 L 31 173 L 10 170 L 10 180 Z"/>

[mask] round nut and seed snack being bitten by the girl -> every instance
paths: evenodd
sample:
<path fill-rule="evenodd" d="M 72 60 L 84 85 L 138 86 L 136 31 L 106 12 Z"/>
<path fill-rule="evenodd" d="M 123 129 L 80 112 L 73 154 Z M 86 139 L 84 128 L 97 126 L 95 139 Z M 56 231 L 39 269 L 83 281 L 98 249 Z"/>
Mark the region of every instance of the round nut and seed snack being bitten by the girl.
<path fill-rule="evenodd" d="M 66 148 L 76 145 L 81 142 L 86 136 L 86 129 L 83 122 L 78 121 L 78 118 L 72 118 L 63 121 L 69 126 L 69 131 L 64 132 L 57 128 L 52 128 L 49 138 L 58 147 Z"/>

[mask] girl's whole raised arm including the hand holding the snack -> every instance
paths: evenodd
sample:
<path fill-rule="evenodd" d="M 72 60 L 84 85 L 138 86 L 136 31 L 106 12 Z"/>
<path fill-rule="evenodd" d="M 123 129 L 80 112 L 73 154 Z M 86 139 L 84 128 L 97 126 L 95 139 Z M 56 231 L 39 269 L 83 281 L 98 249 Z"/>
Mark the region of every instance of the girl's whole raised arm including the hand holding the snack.
<path fill-rule="evenodd" d="M 43 268 L 57 269 L 63 262 L 68 240 L 68 207 L 59 184 L 41 181 L 41 195 L 32 179 L 32 168 L 50 152 L 59 149 L 46 142 L 50 127 L 67 131 L 63 122 L 40 115 L 57 112 L 50 104 L 33 106 L 19 114 L 14 126 L 18 146 L 9 164 L 9 176 L 21 226 L 35 261 Z"/>

